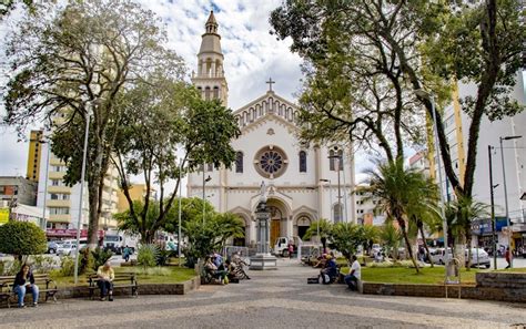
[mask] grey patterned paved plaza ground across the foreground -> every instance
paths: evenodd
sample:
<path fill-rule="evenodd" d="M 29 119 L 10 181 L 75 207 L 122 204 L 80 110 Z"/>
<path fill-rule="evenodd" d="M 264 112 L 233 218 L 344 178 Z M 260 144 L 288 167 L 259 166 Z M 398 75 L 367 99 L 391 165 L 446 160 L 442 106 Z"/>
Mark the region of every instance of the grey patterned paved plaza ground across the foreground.
<path fill-rule="evenodd" d="M 186 296 L 63 299 L 0 309 L 1 328 L 514 328 L 526 305 L 365 296 L 342 285 L 307 285 L 316 269 L 280 260 L 252 280 L 202 286 Z M 522 327 L 515 327 L 522 328 Z"/>

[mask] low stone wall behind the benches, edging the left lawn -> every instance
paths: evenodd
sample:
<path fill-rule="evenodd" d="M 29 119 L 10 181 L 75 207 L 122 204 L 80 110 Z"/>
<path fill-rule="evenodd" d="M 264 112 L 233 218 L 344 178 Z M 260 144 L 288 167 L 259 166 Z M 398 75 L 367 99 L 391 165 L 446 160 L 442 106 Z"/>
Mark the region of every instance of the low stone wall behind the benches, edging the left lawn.
<path fill-rule="evenodd" d="M 201 286 L 200 277 L 194 277 L 188 281 L 182 284 L 141 284 L 139 282 L 139 296 L 141 295 L 186 295 L 192 290 L 198 289 Z M 94 292 L 95 297 L 99 294 L 97 289 Z M 115 287 L 113 289 L 114 296 L 130 296 L 131 288 L 119 288 Z M 69 288 L 60 288 L 59 294 L 57 295 L 58 299 L 64 298 L 88 298 L 90 296 L 90 291 L 88 286 L 82 287 L 69 287 Z"/>

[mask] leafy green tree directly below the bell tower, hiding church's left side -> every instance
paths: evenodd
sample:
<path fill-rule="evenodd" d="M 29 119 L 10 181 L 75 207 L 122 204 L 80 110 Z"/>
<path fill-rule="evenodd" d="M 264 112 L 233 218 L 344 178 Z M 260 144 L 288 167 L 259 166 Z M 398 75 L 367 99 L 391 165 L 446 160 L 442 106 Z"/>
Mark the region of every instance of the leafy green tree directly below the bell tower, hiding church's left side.
<path fill-rule="evenodd" d="M 151 219 L 155 232 L 173 223 L 171 209 L 186 172 L 195 171 L 203 162 L 213 163 L 216 168 L 231 166 L 235 152 L 230 143 L 240 131 L 232 111 L 218 100 L 202 100 L 195 89 L 163 76 L 163 72 L 155 72 L 150 80 L 124 95 L 127 124 L 119 130 L 113 161 L 130 205 L 129 216 L 136 217 L 135 222 L 145 222 L 153 206 L 151 186 L 159 185 L 159 213 Z M 178 158 L 180 150 L 184 155 Z M 139 213 L 129 194 L 129 177 L 138 174 L 143 175 L 146 185 Z M 166 191 L 173 179 L 173 189 Z"/>

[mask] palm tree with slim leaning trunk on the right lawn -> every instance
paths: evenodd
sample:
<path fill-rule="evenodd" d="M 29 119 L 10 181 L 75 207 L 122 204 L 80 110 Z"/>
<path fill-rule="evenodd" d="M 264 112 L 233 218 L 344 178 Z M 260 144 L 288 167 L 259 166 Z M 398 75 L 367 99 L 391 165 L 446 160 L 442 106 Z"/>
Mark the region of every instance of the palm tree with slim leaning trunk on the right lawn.
<path fill-rule="evenodd" d="M 429 195 L 433 196 L 432 191 L 435 187 L 421 172 L 404 168 L 403 160 L 378 162 L 377 169 L 370 169 L 367 173 L 370 174 L 370 186 L 366 191 L 371 193 L 371 197 L 380 201 L 378 207 L 387 214 L 387 217 L 392 217 L 398 223 L 411 260 L 416 273 L 419 273 L 407 235 L 407 223 L 416 209 L 432 204 Z"/>

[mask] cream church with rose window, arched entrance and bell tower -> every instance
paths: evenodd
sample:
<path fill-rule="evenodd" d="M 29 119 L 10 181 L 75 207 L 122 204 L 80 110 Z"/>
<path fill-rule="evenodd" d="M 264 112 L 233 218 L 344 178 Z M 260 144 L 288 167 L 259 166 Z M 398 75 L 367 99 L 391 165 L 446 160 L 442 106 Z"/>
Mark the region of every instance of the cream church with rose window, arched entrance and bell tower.
<path fill-rule="evenodd" d="M 192 82 L 204 99 L 220 99 L 227 105 L 218 27 L 211 12 Z M 356 220 L 351 150 L 343 143 L 302 145 L 295 137 L 297 106 L 272 90 L 272 79 L 267 83 L 263 95 L 234 111 L 241 136 L 232 141 L 236 151 L 232 168 L 204 165 L 204 172 L 190 174 L 188 181 L 189 196 L 204 197 L 218 212 L 231 212 L 243 219 L 245 237 L 236 240 L 237 245 L 255 243 L 254 210 L 262 182 L 271 209 L 271 245 L 280 236 L 302 237 L 318 218 L 335 223 Z"/>

